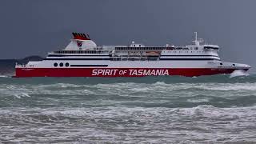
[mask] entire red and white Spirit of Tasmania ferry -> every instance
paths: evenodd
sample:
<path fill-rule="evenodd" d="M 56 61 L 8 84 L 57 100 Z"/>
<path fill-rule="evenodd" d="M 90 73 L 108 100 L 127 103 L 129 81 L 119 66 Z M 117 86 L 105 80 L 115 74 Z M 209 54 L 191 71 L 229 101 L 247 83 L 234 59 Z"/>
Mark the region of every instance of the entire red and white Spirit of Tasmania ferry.
<path fill-rule="evenodd" d="M 219 46 L 201 45 L 197 38 L 189 46 L 97 46 L 88 34 L 72 33 L 64 50 L 50 52 L 38 62 L 15 66 L 14 77 L 143 77 L 160 75 L 200 76 L 230 74 L 250 66 L 222 62 Z"/>

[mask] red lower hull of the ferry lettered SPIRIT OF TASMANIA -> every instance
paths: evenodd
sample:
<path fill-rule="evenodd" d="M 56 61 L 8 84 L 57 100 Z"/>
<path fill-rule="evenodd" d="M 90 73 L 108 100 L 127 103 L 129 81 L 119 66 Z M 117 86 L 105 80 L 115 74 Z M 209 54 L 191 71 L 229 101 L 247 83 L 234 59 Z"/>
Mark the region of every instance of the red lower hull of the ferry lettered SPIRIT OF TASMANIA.
<path fill-rule="evenodd" d="M 238 69 L 212 68 L 16 68 L 14 77 L 144 77 L 182 75 L 186 77 L 230 74 Z M 248 69 L 242 69 L 248 70 Z"/>

